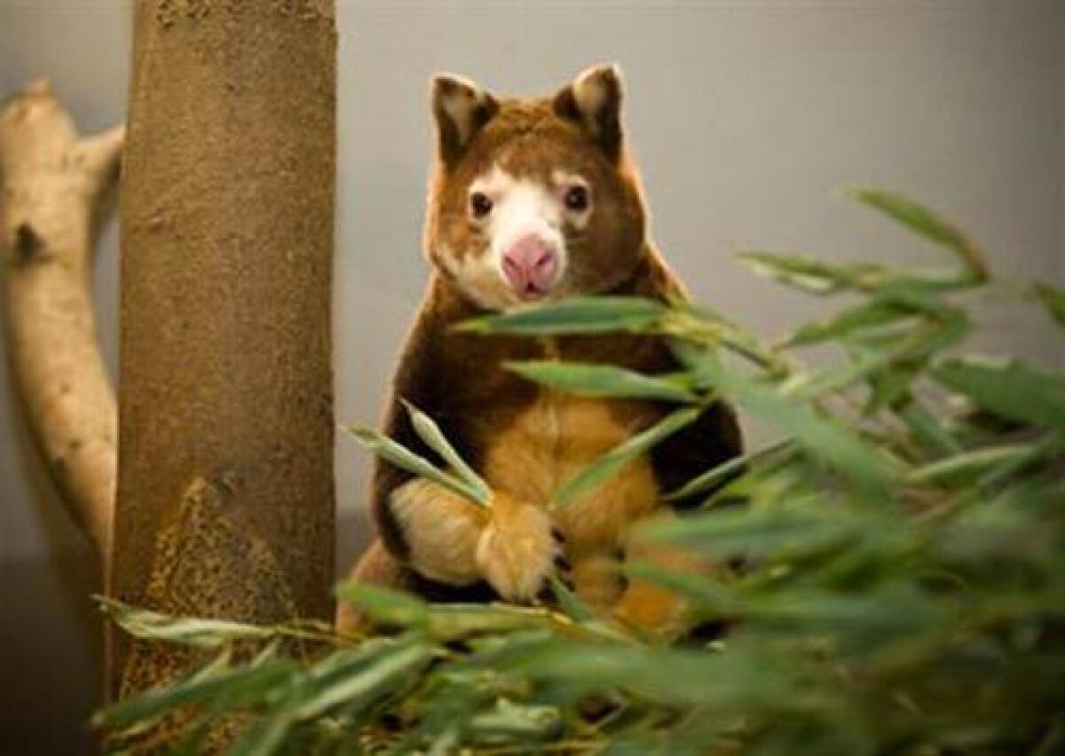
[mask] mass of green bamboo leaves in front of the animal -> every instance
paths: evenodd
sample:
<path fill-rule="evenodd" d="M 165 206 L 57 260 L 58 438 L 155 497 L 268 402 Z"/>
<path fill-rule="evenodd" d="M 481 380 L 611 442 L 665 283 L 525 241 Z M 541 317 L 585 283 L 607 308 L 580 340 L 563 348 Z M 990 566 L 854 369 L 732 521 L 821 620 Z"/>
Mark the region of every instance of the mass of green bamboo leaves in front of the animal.
<path fill-rule="evenodd" d="M 741 558 L 742 570 L 695 578 L 627 566 L 690 598 L 701 619 L 727 622 L 723 638 L 641 641 L 557 584 L 555 608 L 431 606 L 342 587 L 342 599 L 398 628 L 370 639 L 108 604 L 134 635 L 201 646 L 204 665 L 98 723 L 143 728 L 184 707 L 190 726 L 175 746 L 195 751 L 212 718 L 240 712 L 236 754 L 1065 752 L 1065 374 L 960 356 L 973 293 L 1007 289 L 1063 325 L 1065 294 L 994 281 L 972 242 L 905 198 L 855 197 L 954 264 L 743 254 L 785 285 L 846 295 L 779 344 L 706 309 L 639 299 L 575 299 L 466 326 L 672 340 L 684 368 L 671 375 L 512 365 L 560 390 L 677 408 L 564 483 L 557 506 L 716 399 L 780 431 L 674 492 L 707 492 L 697 512 L 645 528 Z M 817 367 L 802 359 L 809 347 Z M 360 432 L 380 451 L 381 439 Z M 477 500 L 482 481 L 457 469 L 456 490 Z M 746 505 L 721 506 L 737 498 Z M 251 640 L 257 655 L 234 655 Z M 279 653 L 293 644 L 306 653 Z"/>

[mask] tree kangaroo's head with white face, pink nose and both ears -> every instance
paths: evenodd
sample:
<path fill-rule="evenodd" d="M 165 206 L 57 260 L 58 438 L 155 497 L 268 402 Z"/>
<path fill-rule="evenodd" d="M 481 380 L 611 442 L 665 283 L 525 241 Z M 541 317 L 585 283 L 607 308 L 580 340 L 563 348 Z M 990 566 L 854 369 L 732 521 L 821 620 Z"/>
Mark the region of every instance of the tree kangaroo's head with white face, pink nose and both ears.
<path fill-rule="evenodd" d="M 531 100 L 437 77 L 426 251 L 438 269 L 490 310 L 625 281 L 645 224 L 620 106 L 613 66 Z"/>

